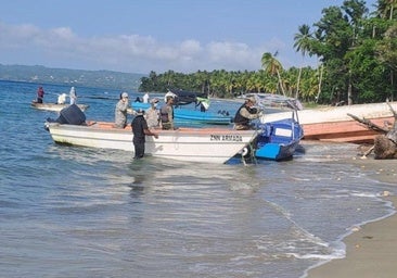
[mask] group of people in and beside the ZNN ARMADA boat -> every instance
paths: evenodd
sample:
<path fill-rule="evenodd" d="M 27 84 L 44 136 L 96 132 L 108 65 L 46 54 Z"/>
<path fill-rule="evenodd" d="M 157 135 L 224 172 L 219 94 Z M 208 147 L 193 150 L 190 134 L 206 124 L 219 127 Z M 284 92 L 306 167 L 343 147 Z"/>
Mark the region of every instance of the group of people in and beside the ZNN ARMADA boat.
<path fill-rule="evenodd" d="M 149 94 L 146 93 L 145 96 Z M 159 100 L 154 98 L 144 101 L 149 102 L 151 106 L 144 110 L 133 111 L 128 101 L 128 93 L 120 93 L 119 100 L 115 109 L 115 127 L 125 128 L 127 126 L 127 115 L 132 114 L 135 118 L 131 123 L 135 147 L 135 159 L 141 159 L 144 156 L 145 151 L 145 137 L 153 136 L 158 139 L 158 134 L 153 131 L 155 129 L 175 129 L 174 125 L 174 96 L 165 97 L 165 104 L 158 109 L 157 104 Z M 239 108 L 234 116 L 234 128 L 238 130 L 252 129 L 252 119 L 258 118 L 261 112 L 255 108 L 256 100 L 251 97 Z"/>

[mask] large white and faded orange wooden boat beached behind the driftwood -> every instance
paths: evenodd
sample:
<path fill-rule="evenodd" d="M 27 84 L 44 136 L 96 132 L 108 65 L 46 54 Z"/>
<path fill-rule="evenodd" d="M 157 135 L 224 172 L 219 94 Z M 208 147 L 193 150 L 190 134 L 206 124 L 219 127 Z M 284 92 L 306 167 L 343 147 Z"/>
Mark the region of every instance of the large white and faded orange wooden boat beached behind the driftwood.
<path fill-rule="evenodd" d="M 394 110 L 397 102 L 389 103 Z M 291 112 L 264 115 L 262 121 L 274 122 L 287 117 Z M 347 106 L 326 106 L 321 109 L 298 111 L 299 123 L 304 129 L 305 140 L 321 140 L 334 142 L 373 143 L 374 130 L 358 123 L 348 114 L 366 118 L 384 126 L 393 123 L 393 113 L 387 103 L 355 104 Z"/>

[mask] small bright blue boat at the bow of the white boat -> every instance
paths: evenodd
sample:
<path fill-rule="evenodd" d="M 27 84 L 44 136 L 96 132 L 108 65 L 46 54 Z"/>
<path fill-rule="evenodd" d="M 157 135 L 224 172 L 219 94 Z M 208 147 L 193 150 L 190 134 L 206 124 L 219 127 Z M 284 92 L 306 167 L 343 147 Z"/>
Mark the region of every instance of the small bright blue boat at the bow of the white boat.
<path fill-rule="evenodd" d="M 297 111 L 292 117 L 273 122 L 262 122 L 257 125 L 261 130 L 257 138 L 255 156 L 274 161 L 293 157 L 293 154 L 304 137 L 304 130 L 297 118 Z"/>

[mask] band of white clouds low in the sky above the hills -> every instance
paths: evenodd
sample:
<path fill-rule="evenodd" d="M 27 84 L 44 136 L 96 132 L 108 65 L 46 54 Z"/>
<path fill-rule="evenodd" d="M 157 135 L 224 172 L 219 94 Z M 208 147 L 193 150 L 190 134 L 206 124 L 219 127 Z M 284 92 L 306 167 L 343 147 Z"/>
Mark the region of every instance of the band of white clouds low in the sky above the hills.
<path fill-rule="evenodd" d="M 79 37 L 68 27 L 40 29 L 0 22 L 0 61 L 54 67 L 111 70 L 131 73 L 256 71 L 264 47 L 195 39 L 174 43 L 151 36 Z"/>

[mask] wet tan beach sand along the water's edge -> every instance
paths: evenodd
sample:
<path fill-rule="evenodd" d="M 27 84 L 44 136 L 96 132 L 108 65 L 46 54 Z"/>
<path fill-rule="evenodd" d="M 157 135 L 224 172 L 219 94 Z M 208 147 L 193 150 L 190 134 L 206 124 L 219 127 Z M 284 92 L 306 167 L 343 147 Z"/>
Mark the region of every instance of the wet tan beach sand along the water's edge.
<path fill-rule="evenodd" d="M 397 187 L 397 160 L 355 159 L 374 179 Z M 397 189 L 397 188 L 396 188 Z M 383 192 L 397 207 L 397 195 Z M 346 257 L 333 260 L 308 271 L 308 278 L 395 278 L 397 277 L 397 214 L 368 223 L 343 241 Z"/>

